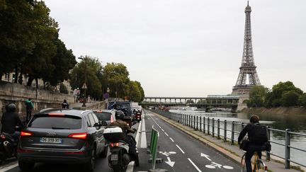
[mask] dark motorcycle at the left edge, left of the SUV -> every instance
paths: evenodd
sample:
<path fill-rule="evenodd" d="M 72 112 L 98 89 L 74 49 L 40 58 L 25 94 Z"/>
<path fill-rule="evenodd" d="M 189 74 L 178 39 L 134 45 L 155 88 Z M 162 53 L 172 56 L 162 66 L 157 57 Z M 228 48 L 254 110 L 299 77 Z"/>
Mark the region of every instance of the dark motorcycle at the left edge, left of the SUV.
<path fill-rule="evenodd" d="M 20 131 L 21 127 L 16 126 L 16 131 Z M 3 162 L 11 157 L 17 158 L 18 141 L 13 139 L 11 134 L 2 132 L 0 134 L 0 161 Z"/>

